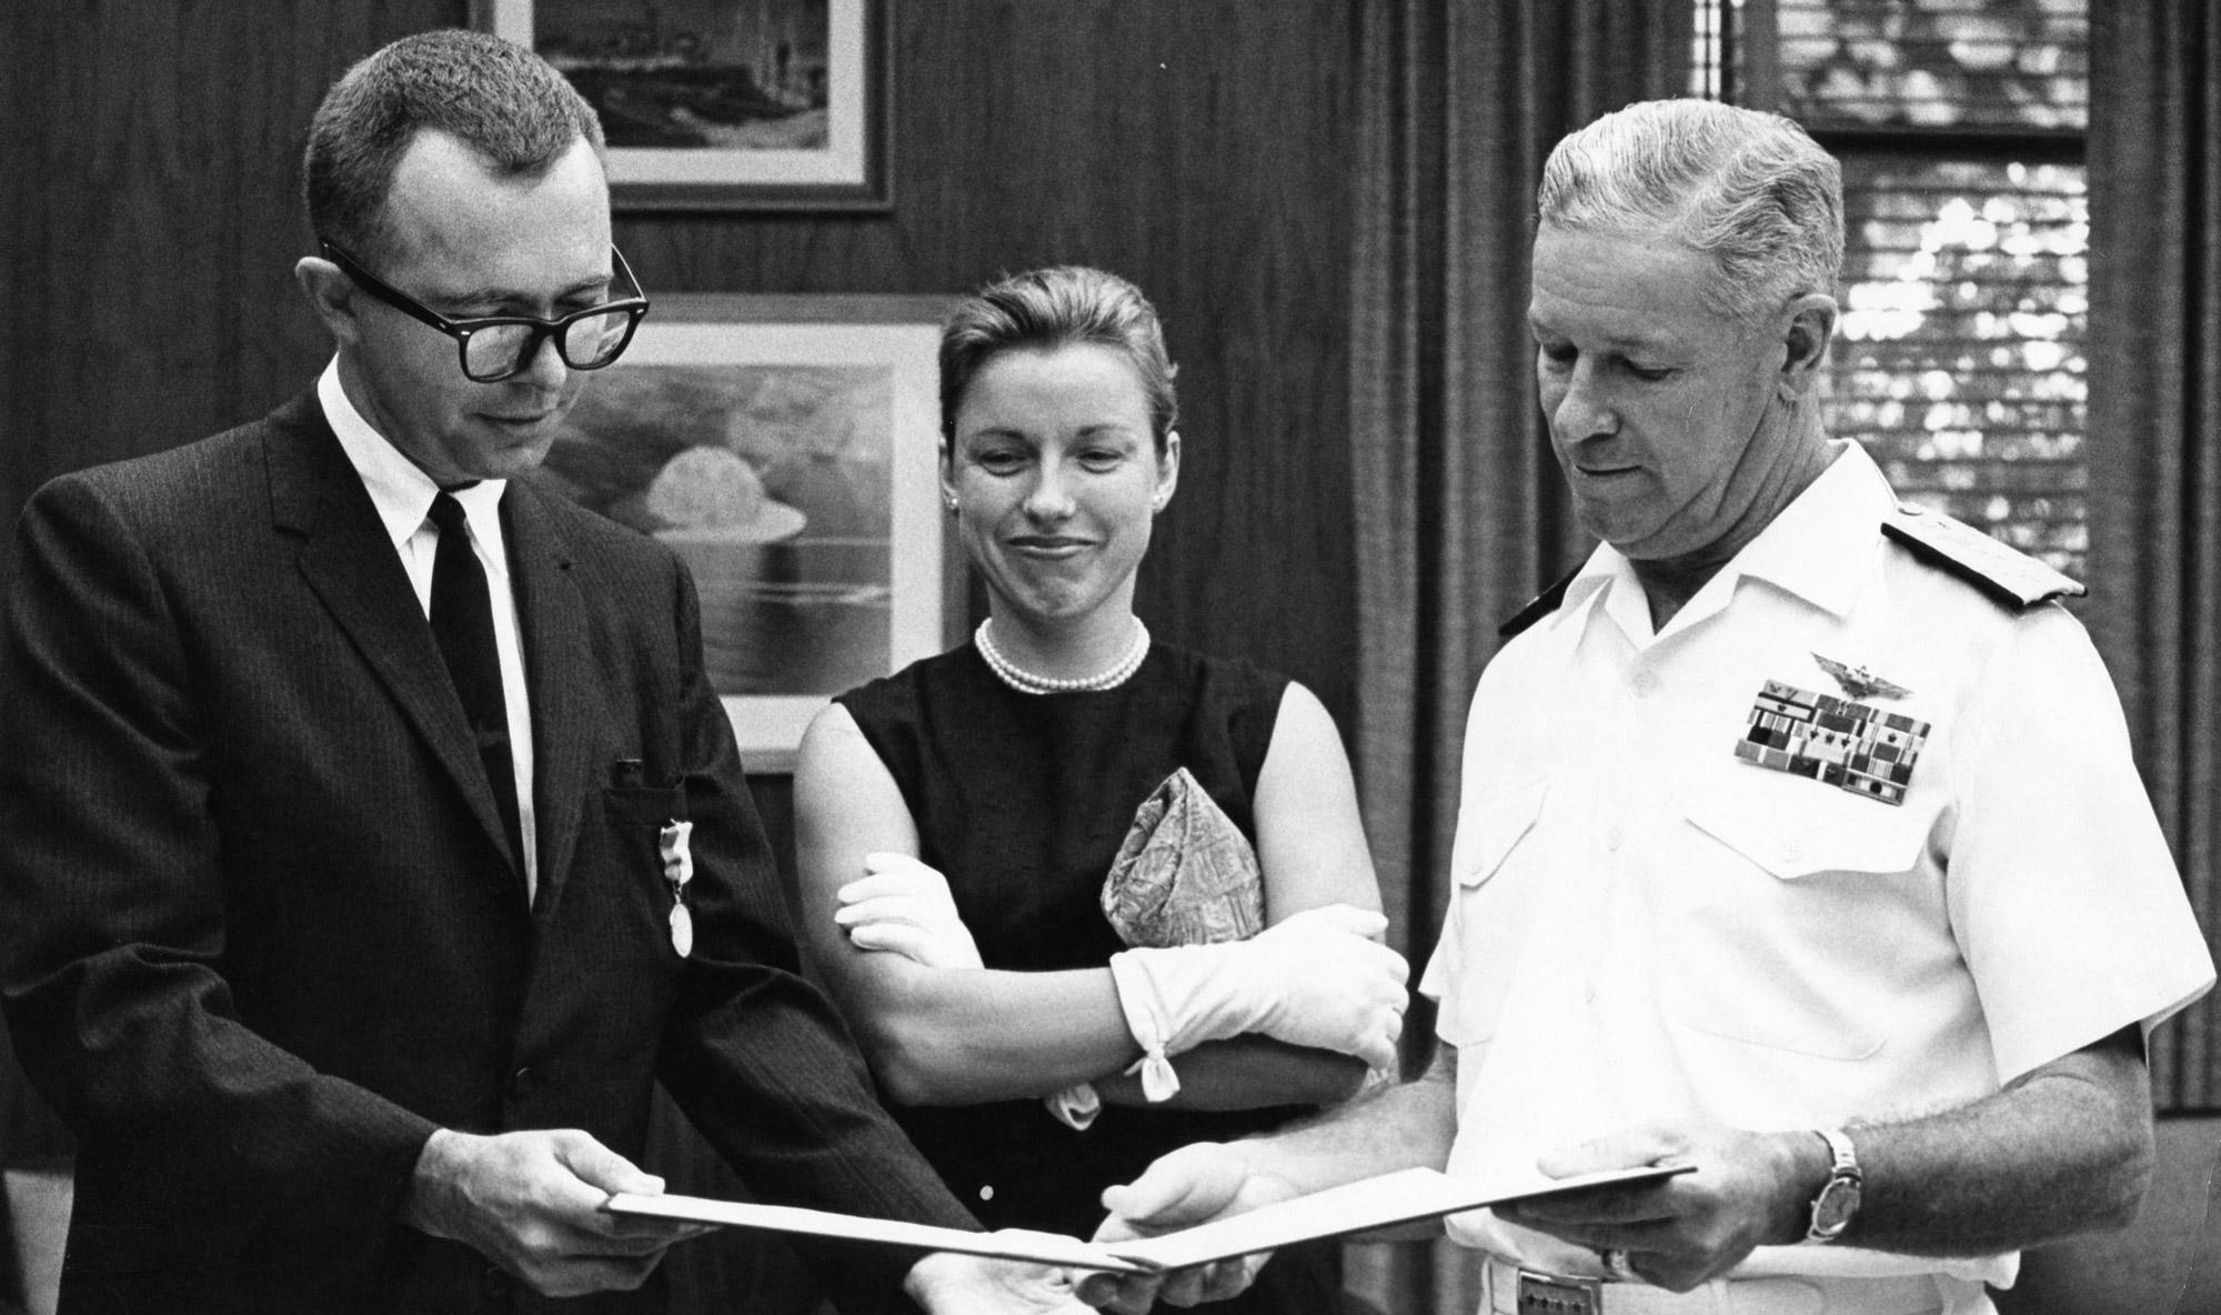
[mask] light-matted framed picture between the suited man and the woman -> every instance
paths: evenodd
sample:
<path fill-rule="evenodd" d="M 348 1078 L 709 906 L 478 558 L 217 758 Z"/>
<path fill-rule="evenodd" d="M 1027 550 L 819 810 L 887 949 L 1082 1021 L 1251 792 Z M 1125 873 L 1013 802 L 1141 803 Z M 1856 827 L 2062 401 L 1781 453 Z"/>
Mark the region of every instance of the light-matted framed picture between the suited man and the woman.
<path fill-rule="evenodd" d="M 944 298 L 660 295 L 535 475 L 669 544 L 748 771 L 962 638 L 937 473 Z"/>

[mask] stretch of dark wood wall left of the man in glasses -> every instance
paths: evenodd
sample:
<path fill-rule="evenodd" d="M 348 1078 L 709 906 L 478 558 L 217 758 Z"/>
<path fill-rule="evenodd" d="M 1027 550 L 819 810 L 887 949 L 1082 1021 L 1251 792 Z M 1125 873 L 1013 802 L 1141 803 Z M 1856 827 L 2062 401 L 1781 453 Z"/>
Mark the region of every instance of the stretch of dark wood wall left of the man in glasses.
<path fill-rule="evenodd" d="M 460 0 L 0 7 L 0 511 L 49 475 L 249 420 L 331 342 L 293 289 L 324 87 Z"/>

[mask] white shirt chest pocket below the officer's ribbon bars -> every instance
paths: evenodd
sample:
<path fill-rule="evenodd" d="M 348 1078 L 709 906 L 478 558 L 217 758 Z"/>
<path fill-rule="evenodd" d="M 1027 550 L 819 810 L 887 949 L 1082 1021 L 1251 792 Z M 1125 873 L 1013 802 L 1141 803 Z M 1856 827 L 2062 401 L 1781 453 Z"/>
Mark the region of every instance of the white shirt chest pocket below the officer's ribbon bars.
<path fill-rule="evenodd" d="M 1950 955 L 1934 813 L 1732 764 L 1684 793 L 1688 846 L 1659 869 L 1672 935 L 1664 997 L 1692 1028 L 1863 1060 L 1890 1037 L 1892 984 Z"/>

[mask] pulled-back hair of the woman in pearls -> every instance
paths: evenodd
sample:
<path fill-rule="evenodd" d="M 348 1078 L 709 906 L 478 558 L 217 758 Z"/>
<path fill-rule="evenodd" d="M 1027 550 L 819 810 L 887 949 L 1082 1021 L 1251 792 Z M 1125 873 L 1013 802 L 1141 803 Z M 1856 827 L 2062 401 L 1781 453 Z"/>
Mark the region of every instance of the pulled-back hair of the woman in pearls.
<path fill-rule="evenodd" d="M 1055 351 L 1093 342 L 1133 362 L 1148 395 L 1148 429 L 1164 453 L 1164 435 L 1179 422 L 1164 327 L 1142 289 L 1115 273 L 1084 264 L 1055 264 L 999 278 L 942 324 L 942 438 L 955 440 L 957 409 L 988 360 L 1006 351 Z"/>

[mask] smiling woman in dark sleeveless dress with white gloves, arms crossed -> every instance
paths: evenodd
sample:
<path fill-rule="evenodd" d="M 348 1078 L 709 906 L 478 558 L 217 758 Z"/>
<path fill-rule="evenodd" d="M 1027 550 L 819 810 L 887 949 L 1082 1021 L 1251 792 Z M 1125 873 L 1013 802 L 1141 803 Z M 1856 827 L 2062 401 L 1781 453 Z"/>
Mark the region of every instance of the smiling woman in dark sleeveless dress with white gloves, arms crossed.
<path fill-rule="evenodd" d="M 1086 1237 L 1104 1186 L 1348 1097 L 1401 1026 L 1326 709 L 1133 613 L 1173 418 L 1133 284 L 1064 267 L 966 300 L 942 495 L 991 615 L 842 695 L 795 771 L 813 968 L 991 1228 Z M 1335 1255 L 1288 1248 L 1213 1308 L 1335 1311 Z"/>

